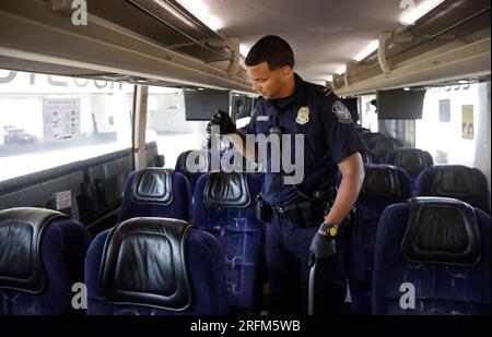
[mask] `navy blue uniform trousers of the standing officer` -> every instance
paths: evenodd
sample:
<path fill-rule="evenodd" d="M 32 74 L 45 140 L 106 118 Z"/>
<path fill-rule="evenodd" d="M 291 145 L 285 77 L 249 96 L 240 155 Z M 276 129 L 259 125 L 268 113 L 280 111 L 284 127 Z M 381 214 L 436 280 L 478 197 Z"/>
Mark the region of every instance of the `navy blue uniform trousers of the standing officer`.
<path fill-rule="evenodd" d="M 273 213 L 266 222 L 266 262 L 270 282 L 269 313 L 307 314 L 309 243 L 318 227 L 300 228 Z M 338 236 L 341 238 L 342 236 Z M 337 254 L 317 263 L 315 314 L 340 314 L 347 293 L 341 262 L 342 240 Z"/>

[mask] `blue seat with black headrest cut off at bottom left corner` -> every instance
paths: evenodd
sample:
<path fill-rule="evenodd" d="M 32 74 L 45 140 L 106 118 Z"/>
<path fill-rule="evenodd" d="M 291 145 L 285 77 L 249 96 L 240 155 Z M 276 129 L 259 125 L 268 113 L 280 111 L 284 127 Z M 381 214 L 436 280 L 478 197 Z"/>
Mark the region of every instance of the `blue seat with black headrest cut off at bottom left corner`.
<path fill-rule="evenodd" d="M 87 229 L 51 209 L 0 210 L 0 314 L 72 314 L 83 282 Z M 81 304 L 81 303 L 79 303 Z"/>

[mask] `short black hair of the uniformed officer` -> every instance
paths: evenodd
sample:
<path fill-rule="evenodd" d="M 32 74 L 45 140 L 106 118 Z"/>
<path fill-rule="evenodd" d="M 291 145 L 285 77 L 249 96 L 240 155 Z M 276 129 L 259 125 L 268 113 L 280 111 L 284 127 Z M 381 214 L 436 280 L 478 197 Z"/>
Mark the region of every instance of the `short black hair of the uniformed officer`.
<path fill-rule="evenodd" d="M 267 35 L 251 47 L 245 59 L 247 67 L 258 65 L 262 62 L 267 62 L 270 70 L 284 65 L 294 68 L 294 51 L 283 38 Z"/>

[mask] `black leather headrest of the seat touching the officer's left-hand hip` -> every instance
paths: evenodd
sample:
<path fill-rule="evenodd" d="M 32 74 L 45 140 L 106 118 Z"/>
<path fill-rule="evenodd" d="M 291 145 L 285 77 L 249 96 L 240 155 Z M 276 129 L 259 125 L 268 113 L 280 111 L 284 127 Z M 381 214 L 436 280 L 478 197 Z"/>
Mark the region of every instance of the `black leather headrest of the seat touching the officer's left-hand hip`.
<path fill-rule="evenodd" d="M 247 207 L 251 203 L 246 173 L 211 172 L 203 203 L 207 207 Z"/>

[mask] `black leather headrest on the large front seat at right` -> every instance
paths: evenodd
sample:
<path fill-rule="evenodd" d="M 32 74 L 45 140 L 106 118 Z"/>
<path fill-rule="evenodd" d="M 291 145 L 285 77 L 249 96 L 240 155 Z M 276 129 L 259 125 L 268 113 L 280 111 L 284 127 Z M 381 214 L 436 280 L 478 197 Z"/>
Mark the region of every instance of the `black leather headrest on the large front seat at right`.
<path fill-rule="evenodd" d="M 415 197 L 409 203 L 409 222 L 401 242 L 408 261 L 459 266 L 480 261 L 480 231 L 469 204 L 446 197 Z"/>

